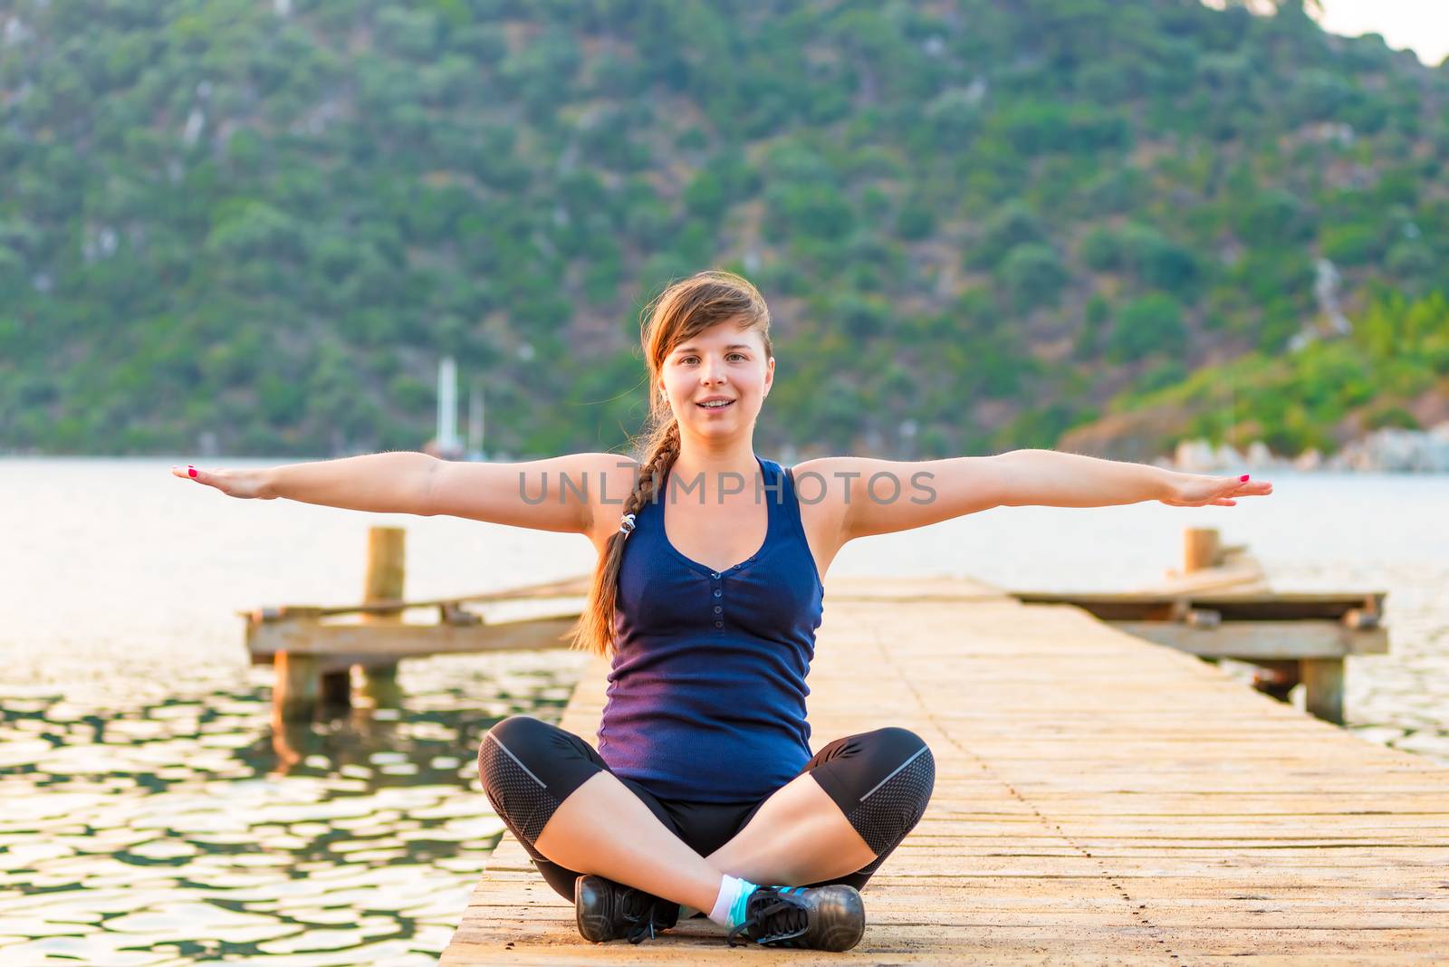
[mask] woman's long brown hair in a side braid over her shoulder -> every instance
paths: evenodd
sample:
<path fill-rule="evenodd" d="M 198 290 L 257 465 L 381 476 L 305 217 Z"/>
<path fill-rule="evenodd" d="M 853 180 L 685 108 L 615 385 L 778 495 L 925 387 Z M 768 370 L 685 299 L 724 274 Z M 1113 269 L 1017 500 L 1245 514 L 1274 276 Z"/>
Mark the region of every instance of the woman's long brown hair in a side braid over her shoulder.
<path fill-rule="evenodd" d="M 733 272 L 711 269 L 672 282 L 645 305 L 639 318 L 643 359 L 649 368 L 649 417 L 643 433 L 635 439 L 639 476 L 619 511 L 620 517 L 636 514 L 646 502 L 655 501 L 669 468 L 680 456 L 680 421 L 669 402 L 655 392 L 664 360 L 674 347 L 719 323 L 736 321 L 743 330 L 758 332 L 765 343 L 767 359 L 774 356 L 765 298 L 749 281 Z M 613 534 L 594 567 L 588 602 L 574 627 L 575 649 L 609 656 L 617 647 L 614 607 L 625 539 L 623 533 Z"/>

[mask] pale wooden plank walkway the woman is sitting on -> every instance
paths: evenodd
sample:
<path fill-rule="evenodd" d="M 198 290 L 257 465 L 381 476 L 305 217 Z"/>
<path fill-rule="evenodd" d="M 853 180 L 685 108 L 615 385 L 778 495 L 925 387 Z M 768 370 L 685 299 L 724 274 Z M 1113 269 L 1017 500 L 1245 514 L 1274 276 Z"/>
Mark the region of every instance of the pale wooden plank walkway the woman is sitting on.
<path fill-rule="evenodd" d="M 1449 951 L 1449 770 L 1191 654 L 964 580 L 830 579 L 811 743 L 881 725 L 936 757 L 845 954 L 729 950 L 688 921 L 594 945 L 504 837 L 443 964 L 1429 964 Z M 604 670 L 562 725 L 593 741 Z M 481 795 L 481 793 L 480 793 Z"/>

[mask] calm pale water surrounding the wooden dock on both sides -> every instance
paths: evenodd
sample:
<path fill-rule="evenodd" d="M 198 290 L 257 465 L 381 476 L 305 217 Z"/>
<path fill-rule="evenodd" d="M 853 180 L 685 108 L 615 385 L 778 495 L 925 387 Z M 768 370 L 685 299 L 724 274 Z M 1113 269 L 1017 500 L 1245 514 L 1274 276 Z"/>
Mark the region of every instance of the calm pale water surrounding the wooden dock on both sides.
<path fill-rule="evenodd" d="M 372 524 L 407 527 L 410 596 L 581 573 L 593 550 L 235 501 L 174 462 L 0 459 L 0 961 L 433 963 L 503 829 L 477 743 L 517 711 L 556 721 L 582 656 L 407 662 L 401 709 L 278 732 L 235 612 L 355 601 Z M 1236 508 L 990 511 L 858 541 L 832 573 L 1127 589 L 1217 525 L 1281 589 L 1390 592 L 1352 728 L 1449 763 L 1449 478 L 1272 479 Z"/>

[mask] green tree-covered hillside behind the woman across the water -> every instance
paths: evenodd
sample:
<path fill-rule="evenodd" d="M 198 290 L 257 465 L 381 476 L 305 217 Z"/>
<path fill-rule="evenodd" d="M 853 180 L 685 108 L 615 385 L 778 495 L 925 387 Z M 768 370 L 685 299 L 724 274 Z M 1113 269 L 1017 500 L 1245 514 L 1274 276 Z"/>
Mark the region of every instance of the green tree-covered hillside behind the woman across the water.
<path fill-rule="evenodd" d="M 416 449 L 442 353 L 613 447 L 707 266 L 765 452 L 1333 449 L 1449 415 L 1446 93 L 1290 3 L 19 0 L 0 449 Z"/>

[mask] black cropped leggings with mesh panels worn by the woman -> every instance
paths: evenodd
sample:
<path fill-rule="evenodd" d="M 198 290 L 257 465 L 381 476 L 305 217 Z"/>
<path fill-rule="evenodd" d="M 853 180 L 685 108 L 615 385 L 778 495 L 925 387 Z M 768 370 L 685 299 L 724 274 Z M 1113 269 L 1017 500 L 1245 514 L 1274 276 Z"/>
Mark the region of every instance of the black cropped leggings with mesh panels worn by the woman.
<path fill-rule="evenodd" d="M 548 884 L 569 902 L 580 874 L 545 858 L 533 841 L 559 803 L 600 772 L 613 774 L 588 743 L 529 715 L 513 715 L 496 724 L 478 748 L 478 774 L 488 802 Z M 875 858 L 846 876 L 790 886 L 865 886 L 920 821 L 936 785 L 930 748 L 916 732 L 894 727 L 835 740 L 806 763 L 800 770 L 804 773 L 814 776 L 829 793 L 875 851 Z M 619 782 L 700 856 L 710 856 L 729 843 L 765 805 L 764 799 L 726 803 L 659 799 L 632 779 L 619 776 Z"/>

